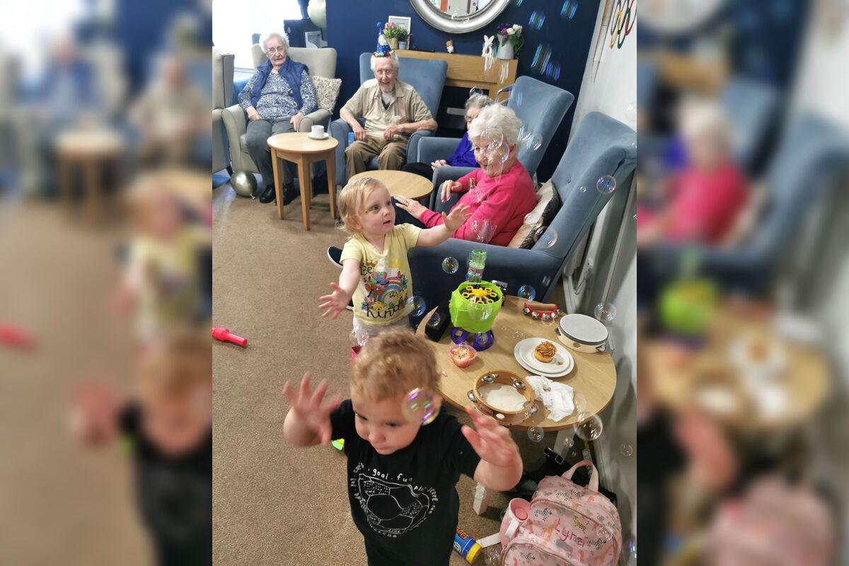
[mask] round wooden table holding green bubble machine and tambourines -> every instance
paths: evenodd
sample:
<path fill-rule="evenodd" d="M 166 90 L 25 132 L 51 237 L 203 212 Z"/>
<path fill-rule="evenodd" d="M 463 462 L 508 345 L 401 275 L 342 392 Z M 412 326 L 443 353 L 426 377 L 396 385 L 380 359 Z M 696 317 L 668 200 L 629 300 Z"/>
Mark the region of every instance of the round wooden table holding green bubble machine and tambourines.
<path fill-rule="evenodd" d="M 488 350 L 478 352 L 477 358 L 469 367 L 455 366 L 448 356 L 448 346 L 452 344 L 450 326 L 439 342 L 428 340 L 428 344 L 436 354 L 436 365 L 447 374 L 441 376 L 439 382 L 439 392 L 445 401 L 459 409 L 474 406 L 467 396 L 469 389 L 472 389 L 475 378 L 481 373 L 494 369 L 504 369 L 522 377 L 531 375 L 532 373 L 521 367 L 513 356 L 514 347 L 520 339 L 544 338 L 561 344 L 554 333 L 554 328 L 557 328 L 556 322 L 548 326 L 545 322 L 526 317 L 521 311 L 523 304 L 524 300 L 519 297 L 507 297 L 507 301 L 501 311 L 498 311 L 498 317 L 492 325 L 495 343 Z M 416 333 L 424 336 L 425 325 L 434 311 L 436 309 L 425 315 Z M 516 332 L 521 332 L 524 336 L 514 338 Z M 613 359 L 608 352 L 585 354 L 569 350 L 569 353 L 575 359 L 575 368 L 565 377 L 554 378 L 553 381 L 571 385 L 577 393 L 587 397 L 587 415 L 593 415 L 604 409 L 613 398 L 613 392 L 616 389 L 616 367 L 613 365 Z M 542 427 L 548 432 L 571 429 L 576 425 L 575 414 L 554 422 L 548 418 L 548 409 L 542 402 L 537 403 L 537 406 L 539 411 L 536 414 L 522 423 L 512 425 L 512 428 L 526 430 L 531 427 Z"/>

